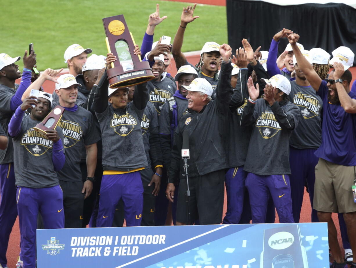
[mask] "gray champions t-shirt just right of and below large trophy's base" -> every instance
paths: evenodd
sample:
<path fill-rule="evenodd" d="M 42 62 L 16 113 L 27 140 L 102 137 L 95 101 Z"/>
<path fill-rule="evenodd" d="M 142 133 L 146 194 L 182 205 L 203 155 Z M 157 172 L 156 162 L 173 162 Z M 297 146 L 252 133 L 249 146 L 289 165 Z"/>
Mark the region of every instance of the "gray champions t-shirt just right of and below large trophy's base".
<path fill-rule="evenodd" d="M 164 78 L 162 81 L 148 81 L 148 101 L 155 106 L 157 113 L 161 113 L 163 104 L 167 99 L 172 97 L 177 90 L 177 85 L 169 78 Z"/>

